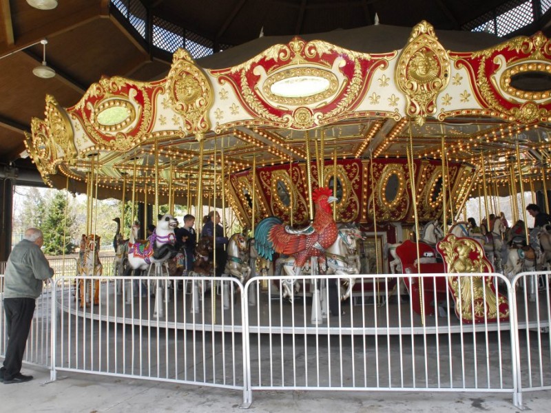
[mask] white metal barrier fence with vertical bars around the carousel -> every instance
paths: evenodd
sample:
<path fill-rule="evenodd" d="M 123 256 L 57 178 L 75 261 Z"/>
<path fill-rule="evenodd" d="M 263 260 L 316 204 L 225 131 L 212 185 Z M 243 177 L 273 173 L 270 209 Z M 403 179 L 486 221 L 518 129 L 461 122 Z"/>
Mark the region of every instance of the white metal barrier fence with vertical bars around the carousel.
<path fill-rule="evenodd" d="M 478 324 L 455 316 L 449 294 L 425 296 L 437 314 L 415 313 L 414 300 L 397 295 L 406 275 L 357 276 L 337 308 L 332 286 L 346 279 L 335 276 L 294 279 L 291 302 L 284 277 L 242 286 L 233 278 L 71 275 L 38 300 L 25 361 L 51 368 L 52 379 L 71 370 L 242 390 L 243 405 L 253 390 L 276 389 L 508 392 L 520 405 L 521 392 L 551 388 L 550 275 L 523 273 L 512 284 L 491 275 L 510 318 Z M 435 275 L 420 277 L 436 290 Z M 0 316 L 3 354 L 3 306 Z"/>

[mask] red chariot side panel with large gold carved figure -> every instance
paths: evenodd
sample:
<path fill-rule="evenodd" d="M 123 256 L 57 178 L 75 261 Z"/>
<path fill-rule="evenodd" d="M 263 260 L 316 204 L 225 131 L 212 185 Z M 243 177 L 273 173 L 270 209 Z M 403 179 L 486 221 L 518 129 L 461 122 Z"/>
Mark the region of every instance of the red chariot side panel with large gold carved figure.
<path fill-rule="evenodd" d="M 492 266 L 486 260 L 484 248 L 472 238 L 450 234 L 438 244 L 448 273 L 489 273 Z M 507 300 L 497 295 L 493 277 L 448 277 L 448 284 L 455 299 L 455 313 L 467 322 L 505 319 L 509 316 Z M 503 310 L 502 310 L 503 308 Z"/>

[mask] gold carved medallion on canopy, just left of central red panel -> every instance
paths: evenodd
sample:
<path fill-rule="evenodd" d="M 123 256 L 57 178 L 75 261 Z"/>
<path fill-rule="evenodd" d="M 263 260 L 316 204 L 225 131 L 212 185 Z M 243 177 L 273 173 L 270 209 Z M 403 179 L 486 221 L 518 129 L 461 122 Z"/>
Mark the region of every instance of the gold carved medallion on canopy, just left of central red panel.
<path fill-rule="evenodd" d="M 183 117 L 185 133 L 202 140 L 210 128 L 209 109 L 214 96 L 209 79 L 183 49 L 174 53 L 167 89 L 172 109 Z"/>

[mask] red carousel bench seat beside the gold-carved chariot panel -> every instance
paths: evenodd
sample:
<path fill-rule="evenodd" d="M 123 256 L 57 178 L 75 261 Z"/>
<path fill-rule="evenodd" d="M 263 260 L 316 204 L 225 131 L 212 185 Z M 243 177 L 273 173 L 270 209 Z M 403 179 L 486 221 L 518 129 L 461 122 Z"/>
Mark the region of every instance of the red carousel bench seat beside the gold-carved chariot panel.
<path fill-rule="evenodd" d="M 446 299 L 448 286 L 446 277 L 424 277 L 421 282 L 420 277 L 415 277 L 415 274 L 442 274 L 444 273 L 444 263 L 434 262 L 437 260 L 437 252 L 435 249 L 419 242 L 419 257 L 417 262 L 417 244 L 406 240 L 396 248 L 396 255 L 402 264 L 402 273 L 410 274 L 411 277 L 404 278 L 404 284 L 408 289 L 413 311 L 421 314 L 421 290 L 423 292 L 423 307 L 425 315 L 433 315 L 435 313 L 435 301 Z"/>

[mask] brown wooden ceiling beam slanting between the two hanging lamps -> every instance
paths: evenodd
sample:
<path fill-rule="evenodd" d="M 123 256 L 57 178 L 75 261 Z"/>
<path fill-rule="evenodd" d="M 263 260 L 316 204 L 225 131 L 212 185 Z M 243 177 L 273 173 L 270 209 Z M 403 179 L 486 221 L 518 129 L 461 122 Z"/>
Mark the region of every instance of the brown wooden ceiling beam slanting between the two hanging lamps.
<path fill-rule="evenodd" d="M 4 56 L 5 54 L 15 50 L 20 50 L 22 47 L 33 45 L 46 37 L 53 37 L 70 32 L 81 25 L 85 25 L 90 23 L 90 21 L 100 18 L 100 12 L 101 9 L 98 5 L 94 5 L 92 7 L 83 8 L 70 16 L 64 17 L 63 19 L 52 21 L 46 25 L 41 25 L 34 30 L 25 32 L 21 36 L 17 36 L 14 44 L 7 45 L 6 47 L 0 47 L 0 56 Z"/>

